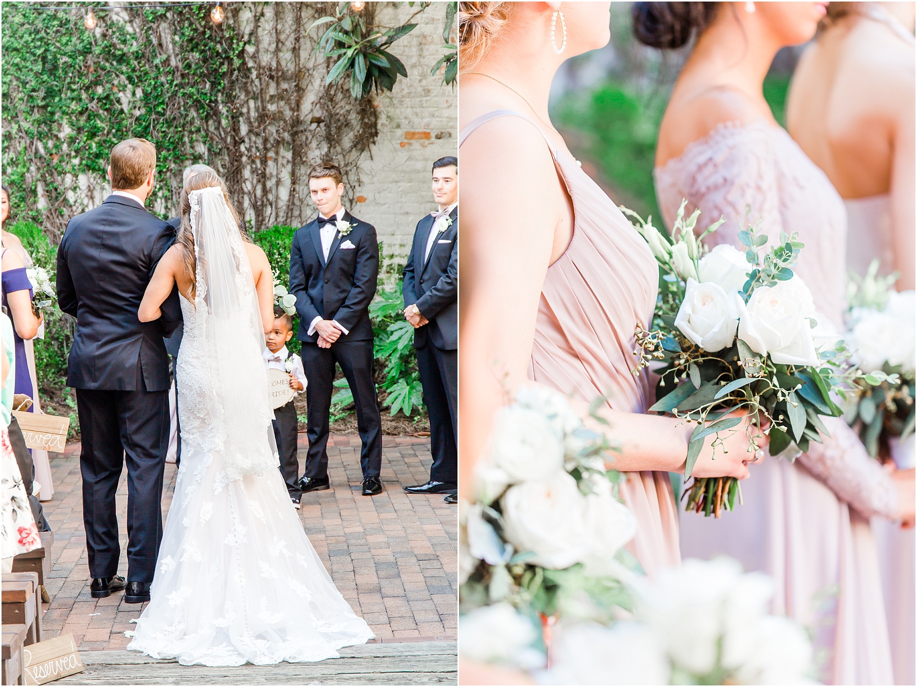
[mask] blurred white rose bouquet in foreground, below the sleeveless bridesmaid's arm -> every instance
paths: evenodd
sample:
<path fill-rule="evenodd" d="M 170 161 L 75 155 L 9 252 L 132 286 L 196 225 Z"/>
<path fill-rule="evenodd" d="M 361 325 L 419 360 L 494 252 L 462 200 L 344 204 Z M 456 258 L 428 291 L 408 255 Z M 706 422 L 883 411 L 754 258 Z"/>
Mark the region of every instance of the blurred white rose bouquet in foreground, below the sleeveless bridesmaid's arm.
<path fill-rule="evenodd" d="M 494 419 L 475 467 L 477 503 L 463 507 L 463 612 L 508 603 L 538 621 L 554 615 L 609 622 L 629 606 L 619 572 L 636 531 L 616 497 L 613 449 L 583 427 L 562 395 L 526 387 Z"/>

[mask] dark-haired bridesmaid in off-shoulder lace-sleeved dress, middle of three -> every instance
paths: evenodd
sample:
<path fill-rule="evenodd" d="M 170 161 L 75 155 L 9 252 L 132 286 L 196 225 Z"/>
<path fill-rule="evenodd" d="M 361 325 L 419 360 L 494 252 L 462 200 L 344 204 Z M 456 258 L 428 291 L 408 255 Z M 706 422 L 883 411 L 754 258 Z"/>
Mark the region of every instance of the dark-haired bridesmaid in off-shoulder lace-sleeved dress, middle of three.
<path fill-rule="evenodd" d="M 844 204 L 779 127 L 762 83 L 779 48 L 810 39 L 823 3 L 636 3 L 637 38 L 678 48 L 698 33 L 659 132 L 656 186 L 670 225 L 682 197 L 726 223 L 711 244 L 738 245 L 750 209 L 771 238 L 798 232 L 795 271 L 816 308 L 841 327 L 845 294 Z M 831 684 L 889 684 L 889 637 L 868 518 L 905 515 L 896 484 L 840 418 L 808 454 L 768 460 L 743 484 L 745 505 L 720 520 L 684 514 L 684 556 L 727 554 L 777 582 L 774 611 L 790 615 L 823 649 Z M 896 488 L 897 487 L 897 488 Z M 911 481 L 911 512 L 913 510 Z"/>

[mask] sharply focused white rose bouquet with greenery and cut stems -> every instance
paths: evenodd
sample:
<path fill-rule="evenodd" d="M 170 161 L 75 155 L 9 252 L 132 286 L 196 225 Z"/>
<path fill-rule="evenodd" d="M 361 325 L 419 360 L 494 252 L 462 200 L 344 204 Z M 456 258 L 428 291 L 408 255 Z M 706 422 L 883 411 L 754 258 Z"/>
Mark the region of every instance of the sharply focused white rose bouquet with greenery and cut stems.
<path fill-rule="evenodd" d="M 703 441 L 720 432 L 741 431 L 742 418 L 727 416 L 742 408 L 759 431 L 749 432 L 751 450 L 763 435 L 771 455 L 791 444 L 800 451 L 827 433 L 819 416 L 840 416 L 832 392 L 849 384 L 845 347 L 812 304 L 812 294 L 790 269 L 802 244 L 780 232 L 779 244 L 757 226 L 739 232 L 745 252 L 719 245 L 704 252 L 695 237 L 700 211 L 685 217 L 681 202 L 672 238 L 651 220 L 635 219 L 659 265 L 659 295 L 653 331 L 636 328 L 635 374 L 651 363 L 660 376 L 658 401 L 649 410 L 696 423 L 685 463 L 691 475 Z M 849 388 L 849 387 L 848 387 Z M 686 492 L 687 509 L 719 517 L 741 503 L 735 478 L 695 479 Z"/>

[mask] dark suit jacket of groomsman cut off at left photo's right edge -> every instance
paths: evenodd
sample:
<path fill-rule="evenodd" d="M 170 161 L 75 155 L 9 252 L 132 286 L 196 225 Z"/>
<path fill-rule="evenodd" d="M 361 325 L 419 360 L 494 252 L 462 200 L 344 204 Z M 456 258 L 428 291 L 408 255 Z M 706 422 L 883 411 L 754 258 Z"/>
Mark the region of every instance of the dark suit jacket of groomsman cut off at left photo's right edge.
<path fill-rule="evenodd" d="M 446 227 L 425 257 L 426 243 L 436 220 L 427 215 L 414 229 L 414 243 L 404 266 L 404 307 L 417 305 L 429 324 L 414 329 L 414 346 L 429 340 L 437 349 L 458 349 L 458 205 Z"/>

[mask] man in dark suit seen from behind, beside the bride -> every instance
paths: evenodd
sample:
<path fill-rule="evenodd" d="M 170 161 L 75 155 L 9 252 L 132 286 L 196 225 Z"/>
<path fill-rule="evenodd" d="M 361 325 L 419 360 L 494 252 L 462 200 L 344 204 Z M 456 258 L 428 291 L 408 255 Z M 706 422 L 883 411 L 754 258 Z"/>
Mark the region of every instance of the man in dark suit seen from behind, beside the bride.
<path fill-rule="evenodd" d="M 67 384 L 76 389 L 83 435 L 83 525 L 91 592 L 102 598 L 126 584 L 115 493 L 127 454 L 125 601 L 149 601 L 162 538 L 162 477 L 169 443 L 169 359 L 162 338 L 182 321 L 178 294 L 162 316 L 141 323 L 138 307 L 174 230 L 144 209 L 156 149 L 127 139 L 111 153 L 112 194 L 70 220 L 58 249 L 61 310 L 76 317 Z"/>

